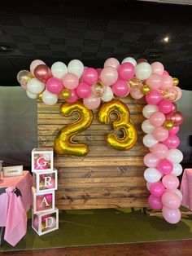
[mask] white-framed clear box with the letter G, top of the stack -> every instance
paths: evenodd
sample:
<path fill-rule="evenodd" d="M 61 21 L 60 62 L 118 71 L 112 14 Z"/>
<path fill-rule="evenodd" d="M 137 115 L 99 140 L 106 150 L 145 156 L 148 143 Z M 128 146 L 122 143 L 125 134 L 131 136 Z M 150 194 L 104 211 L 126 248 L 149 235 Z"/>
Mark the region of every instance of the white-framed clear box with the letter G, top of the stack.
<path fill-rule="evenodd" d="M 33 148 L 32 171 L 49 171 L 54 168 L 53 148 Z"/>

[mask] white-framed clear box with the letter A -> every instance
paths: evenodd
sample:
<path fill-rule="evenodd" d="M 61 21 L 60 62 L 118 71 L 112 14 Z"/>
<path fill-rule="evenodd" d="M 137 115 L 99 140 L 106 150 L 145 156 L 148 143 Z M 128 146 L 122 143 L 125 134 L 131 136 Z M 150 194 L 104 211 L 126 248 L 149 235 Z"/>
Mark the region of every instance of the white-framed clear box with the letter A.
<path fill-rule="evenodd" d="M 39 214 L 55 210 L 55 191 L 50 192 L 36 192 L 35 188 L 32 188 L 33 192 L 33 214 Z"/>

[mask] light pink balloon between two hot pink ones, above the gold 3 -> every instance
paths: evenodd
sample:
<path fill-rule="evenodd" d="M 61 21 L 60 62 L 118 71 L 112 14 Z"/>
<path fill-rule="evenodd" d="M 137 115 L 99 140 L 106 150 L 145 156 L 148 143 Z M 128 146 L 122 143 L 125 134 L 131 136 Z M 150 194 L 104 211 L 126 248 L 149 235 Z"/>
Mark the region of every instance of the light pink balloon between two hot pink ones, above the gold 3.
<path fill-rule="evenodd" d="M 103 68 L 100 74 L 100 77 L 101 77 L 101 81 L 104 82 L 106 86 L 111 86 L 117 81 L 118 72 L 116 68 L 106 67 L 106 68 Z"/>

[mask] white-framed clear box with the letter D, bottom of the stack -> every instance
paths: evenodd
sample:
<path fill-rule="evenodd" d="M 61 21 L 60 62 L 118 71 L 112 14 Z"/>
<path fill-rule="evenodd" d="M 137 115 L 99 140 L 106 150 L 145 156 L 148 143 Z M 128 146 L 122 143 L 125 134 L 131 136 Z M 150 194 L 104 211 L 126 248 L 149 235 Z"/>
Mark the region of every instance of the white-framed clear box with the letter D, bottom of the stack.
<path fill-rule="evenodd" d="M 32 213 L 32 227 L 39 236 L 59 228 L 59 210 L 47 211 L 42 214 Z"/>

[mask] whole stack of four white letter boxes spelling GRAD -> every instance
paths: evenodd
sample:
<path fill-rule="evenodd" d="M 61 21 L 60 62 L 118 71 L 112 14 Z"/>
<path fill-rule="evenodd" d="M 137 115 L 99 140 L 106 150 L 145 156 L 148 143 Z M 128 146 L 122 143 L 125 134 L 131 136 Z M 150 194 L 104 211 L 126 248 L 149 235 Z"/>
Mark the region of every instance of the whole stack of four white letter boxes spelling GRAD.
<path fill-rule="evenodd" d="M 32 227 L 39 236 L 59 228 L 59 210 L 55 208 L 57 170 L 52 148 L 33 148 L 33 216 Z"/>

